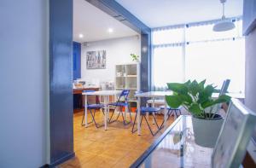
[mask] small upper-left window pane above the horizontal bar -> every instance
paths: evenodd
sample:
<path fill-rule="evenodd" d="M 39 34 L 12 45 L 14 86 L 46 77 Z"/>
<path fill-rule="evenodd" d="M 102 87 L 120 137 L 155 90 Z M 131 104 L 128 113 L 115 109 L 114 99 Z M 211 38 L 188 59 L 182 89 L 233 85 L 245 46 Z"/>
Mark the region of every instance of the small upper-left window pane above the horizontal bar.
<path fill-rule="evenodd" d="M 175 28 L 162 31 L 154 31 L 152 33 L 152 43 L 181 43 L 183 42 L 183 28 Z"/>

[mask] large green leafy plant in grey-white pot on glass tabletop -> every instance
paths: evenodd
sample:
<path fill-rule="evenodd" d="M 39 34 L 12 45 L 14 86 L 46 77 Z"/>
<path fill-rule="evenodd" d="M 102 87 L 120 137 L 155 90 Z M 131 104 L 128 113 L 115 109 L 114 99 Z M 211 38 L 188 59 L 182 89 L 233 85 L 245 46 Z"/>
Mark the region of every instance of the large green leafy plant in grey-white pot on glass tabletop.
<path fill-rule="evenodd" d="M 198 83 L 190 80 L 184 84 L 168 83 L 172 96 L 166 96 L 170 107 L 183 106 L 192 114 L 195 143 L 203 147 L 213 148 L 224 119 L 218 114 L 215 106 L 230 101 L 230 96 L 222 95 L 213 99 L 212 93 L 217 92 L 212 84 L 205 85 L 206 80 Z"/>

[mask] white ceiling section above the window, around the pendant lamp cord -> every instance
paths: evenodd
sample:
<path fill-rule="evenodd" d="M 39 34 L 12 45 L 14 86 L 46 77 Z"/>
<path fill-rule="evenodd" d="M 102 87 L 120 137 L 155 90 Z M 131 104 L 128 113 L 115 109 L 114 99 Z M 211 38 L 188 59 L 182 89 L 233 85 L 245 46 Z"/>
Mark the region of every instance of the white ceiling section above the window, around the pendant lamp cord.
<path fill-rule="evenodd" d="M 116 0 L 149 27 L 216 20 L 222 15 L 219 0 Z M 227 17 L 242 14 L 242 0 L 227 0 Z"/>

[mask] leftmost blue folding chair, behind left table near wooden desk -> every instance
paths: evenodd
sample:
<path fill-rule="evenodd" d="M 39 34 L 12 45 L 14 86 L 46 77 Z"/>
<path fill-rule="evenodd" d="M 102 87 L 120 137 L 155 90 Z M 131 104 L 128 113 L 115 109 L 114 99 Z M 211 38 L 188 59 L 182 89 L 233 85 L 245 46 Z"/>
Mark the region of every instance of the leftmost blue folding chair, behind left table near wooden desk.
<path fill-rule="evenodd" d="M 84 90 L 83 92 L 94 92 L 94 91 L 95 90 Z M 91 115 L 91 119 L 92 119 L 92 121 L 90 123 L 93 122 L 95 124 L 96 128 L 100 128 L 100 127 L 103 126 L 103 125 L 97 124 L 96 119 L 95 119 L 96 111 L 98 111 L 100 109 L 102 109 L 102 113 L 103 113 L 103 115 L 105 115 L 105 113 L 103 111 L 103 109 L 104 109 L 103 107 L 104 107 L 104 105 L 100 103 L 98 97 L 96 97 L 96 104 L 89 104 L 88 101 L 87 101 L 87 109 L 90 110 L 90 115 Z M 92 113 L 92 111 L 93 111 L 93 113 Z M 84 113 L 84 115 L 85 115 L 85 113 Z M 83 119 L 82 119 L 82 123 L 81 123 L 82 126 L 84 125 L 83 124 L 84 115 L 83 115 Z"/>

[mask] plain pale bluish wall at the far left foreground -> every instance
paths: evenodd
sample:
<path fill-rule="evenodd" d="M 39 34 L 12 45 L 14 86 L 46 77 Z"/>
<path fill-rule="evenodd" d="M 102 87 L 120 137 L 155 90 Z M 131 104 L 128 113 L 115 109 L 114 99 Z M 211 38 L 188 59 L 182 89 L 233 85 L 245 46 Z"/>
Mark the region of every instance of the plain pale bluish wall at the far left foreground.
<path fill-rule="evenodd" d="M 47 1 L 0 1 L 0 167 L 46 164 Z"/>

